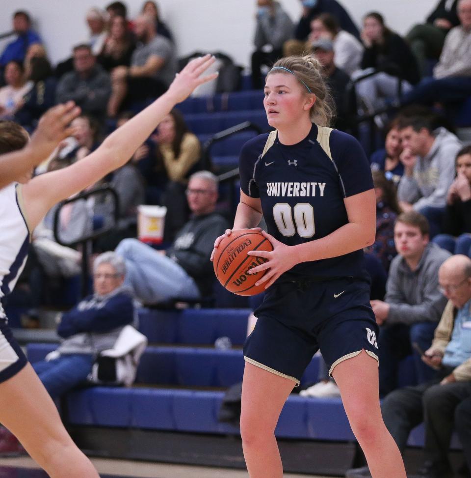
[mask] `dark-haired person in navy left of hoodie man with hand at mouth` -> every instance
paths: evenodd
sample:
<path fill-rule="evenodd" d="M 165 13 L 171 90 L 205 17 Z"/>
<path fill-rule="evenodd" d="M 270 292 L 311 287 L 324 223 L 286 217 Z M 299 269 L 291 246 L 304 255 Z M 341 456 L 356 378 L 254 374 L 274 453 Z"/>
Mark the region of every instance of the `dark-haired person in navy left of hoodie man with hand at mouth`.
<path fill-rule="evenodd" d="M 404 174 L 401 163 L 402 141 L 399 130 L 400 119 L 393 119 L 386 128 L 386 141 L 383 149 L 378 149 L 369 158 L 372 171 L 384 172 L 387 179 L 397 185 Z"/>

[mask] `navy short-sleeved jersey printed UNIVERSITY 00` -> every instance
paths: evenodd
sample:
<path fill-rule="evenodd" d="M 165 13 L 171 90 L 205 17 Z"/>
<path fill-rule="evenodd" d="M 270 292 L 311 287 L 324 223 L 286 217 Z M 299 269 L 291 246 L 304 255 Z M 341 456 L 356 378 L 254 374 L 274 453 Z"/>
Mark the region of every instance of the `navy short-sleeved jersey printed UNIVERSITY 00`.
<path fill-rule="evenodd" d="M 247 141 L 239 171 L 241 190 L 261 198 L 268 232 L 288 246 L 320 239 L 347 224 L 343 199 L 373 188 L 360 143 L 315 124 L 303 141 L 290 146 L 278 141 L 276 131 Z M 358 277 L 362 271 L 360 250 L 296 264 L 284 276 Z"/>

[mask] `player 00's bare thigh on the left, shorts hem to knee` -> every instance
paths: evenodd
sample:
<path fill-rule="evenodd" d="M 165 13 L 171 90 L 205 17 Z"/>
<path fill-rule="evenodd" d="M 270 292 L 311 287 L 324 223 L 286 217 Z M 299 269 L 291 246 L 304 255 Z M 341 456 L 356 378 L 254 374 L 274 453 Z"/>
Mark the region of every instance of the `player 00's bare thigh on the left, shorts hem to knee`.
<path fill-rule="evenodd" d="M 242 382 L 241 434 L 273 433 L 295 382 L 259 366 L 245 364 Z"/>

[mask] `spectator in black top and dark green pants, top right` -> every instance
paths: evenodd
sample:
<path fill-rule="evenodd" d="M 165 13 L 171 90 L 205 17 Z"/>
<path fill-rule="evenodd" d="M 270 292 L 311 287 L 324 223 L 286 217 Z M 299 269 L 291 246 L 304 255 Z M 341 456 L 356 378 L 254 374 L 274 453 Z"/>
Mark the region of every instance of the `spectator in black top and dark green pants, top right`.
<path fill-rule="evenodd" d="M 426 23 L 414 25 L 406 39 L 419 62 L 421 76 L 428 76 L 427 60 L 437 60 L 448 31 L 460 23 L 456 14 L 458 0 L 440 0 Z"/>

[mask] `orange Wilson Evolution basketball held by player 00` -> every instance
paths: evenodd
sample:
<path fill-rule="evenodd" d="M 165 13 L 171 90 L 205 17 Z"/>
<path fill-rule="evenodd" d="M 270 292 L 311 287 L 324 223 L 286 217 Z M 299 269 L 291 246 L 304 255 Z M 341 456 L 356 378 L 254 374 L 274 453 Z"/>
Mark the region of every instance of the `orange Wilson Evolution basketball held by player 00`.
<path fill-rule="evenodd" d="M 263 292 L 266 283 L 255 286 L 265 271 L 248 274 L 247 271 L 267 260 L 249 251 L 273 251 L 273 246 L 261 232 L 240 229 L 225 237 L 216 249 L 213 266 L 217 280 L 230 292 L 237 295 L 256 295 Z"/>

